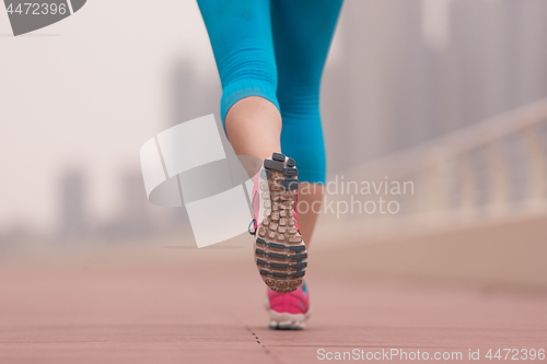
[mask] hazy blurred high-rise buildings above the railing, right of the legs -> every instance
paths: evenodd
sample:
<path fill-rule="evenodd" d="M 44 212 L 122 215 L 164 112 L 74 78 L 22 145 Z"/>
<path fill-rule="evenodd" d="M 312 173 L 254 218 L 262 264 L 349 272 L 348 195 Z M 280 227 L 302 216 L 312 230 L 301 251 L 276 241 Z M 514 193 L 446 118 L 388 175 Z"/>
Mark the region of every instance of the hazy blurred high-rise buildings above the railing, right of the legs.
<path fill-rule="evenodd" d="M 329 172 L 547 96 L 547 2 L 346 1 L 325 70 Z"/>

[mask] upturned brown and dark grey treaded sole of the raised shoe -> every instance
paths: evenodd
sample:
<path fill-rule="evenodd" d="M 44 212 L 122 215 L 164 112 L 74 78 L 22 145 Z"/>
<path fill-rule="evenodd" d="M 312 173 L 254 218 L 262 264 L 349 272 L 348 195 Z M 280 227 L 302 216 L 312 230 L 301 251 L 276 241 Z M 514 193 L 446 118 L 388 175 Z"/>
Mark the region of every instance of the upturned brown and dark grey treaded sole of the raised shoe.
<path fill-rule="evenodd" d="M 299 173 L 294 160 L 278 153 L 264 161 L 263 172 L 266 179 L 260 179 L 258 190 L 267 193 L 261 200 L 268 210 L 257 222 L 255 261 L 266 285 L 288 293 L 302 284 L 307 267 L 306 246 L 294 219 Z"/>

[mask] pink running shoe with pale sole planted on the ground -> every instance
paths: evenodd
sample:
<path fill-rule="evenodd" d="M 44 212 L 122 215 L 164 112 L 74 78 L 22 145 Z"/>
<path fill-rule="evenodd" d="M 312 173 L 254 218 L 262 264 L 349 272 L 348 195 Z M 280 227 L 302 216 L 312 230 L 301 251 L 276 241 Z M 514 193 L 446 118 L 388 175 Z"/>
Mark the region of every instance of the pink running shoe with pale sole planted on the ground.
<path fill-rule="evenodd" d="M 303 330 L 311 315 L 306 283 L 290 293 L 277 293 L 268 289 L 266 309 L 270 315 L 270 329 Z"/>

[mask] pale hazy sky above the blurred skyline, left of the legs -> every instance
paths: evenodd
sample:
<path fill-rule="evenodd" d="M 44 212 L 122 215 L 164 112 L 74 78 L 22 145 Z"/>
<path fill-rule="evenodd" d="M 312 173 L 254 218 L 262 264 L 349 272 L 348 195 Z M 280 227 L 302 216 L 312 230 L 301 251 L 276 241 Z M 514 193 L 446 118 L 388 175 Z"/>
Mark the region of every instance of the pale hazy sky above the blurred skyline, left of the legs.
<path fill-rule="evenodd" d="M 86 172 L 93 213 L 115 214 L 119 175 L 170 122 L 173 64 L 218 77 L 194 0 L 90 0 L 20 37 L 2 10 L 0 49 L 0 232 L 54 227 L 69 166 Z"/>

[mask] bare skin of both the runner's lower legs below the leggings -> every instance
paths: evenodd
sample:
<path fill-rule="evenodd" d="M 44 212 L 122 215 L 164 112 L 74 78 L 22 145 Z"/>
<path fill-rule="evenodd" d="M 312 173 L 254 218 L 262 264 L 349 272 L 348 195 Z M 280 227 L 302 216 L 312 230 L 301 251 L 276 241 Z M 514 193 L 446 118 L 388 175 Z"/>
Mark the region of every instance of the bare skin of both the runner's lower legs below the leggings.
<path fill-rule="evenodd" d="M 235 154 L 253 155 L 260 160 L 271 157 L 272 153 L 281 153 L 281 114 L 276 105 L 258 96 L 242 98 L 230 108 L 225 118 L 228 139 Z M 310 248 L 324 188 L 321 185 L 302 183 L 300 189 L 303 193 L 299 193 L 296 207 L 299 227 L 306 247 Z"/>

